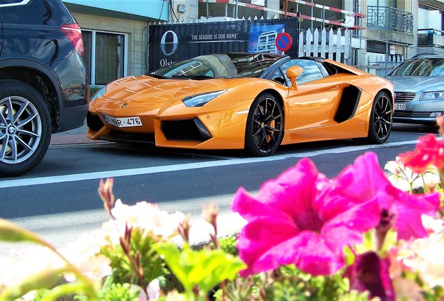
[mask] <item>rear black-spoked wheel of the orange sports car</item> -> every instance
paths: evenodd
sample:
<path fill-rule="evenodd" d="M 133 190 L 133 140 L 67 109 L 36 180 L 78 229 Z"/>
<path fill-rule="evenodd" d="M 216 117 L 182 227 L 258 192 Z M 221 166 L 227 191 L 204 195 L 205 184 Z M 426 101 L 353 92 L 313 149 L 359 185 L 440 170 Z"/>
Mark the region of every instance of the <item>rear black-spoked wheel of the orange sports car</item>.
<path fill-rule="evenodd" d="M 370 144 L 383 144 L 392 132 L 393 102 L 387 92 L 376 94 L 371 107 L 369 121 L 369 135 L 366 142 Z"/>

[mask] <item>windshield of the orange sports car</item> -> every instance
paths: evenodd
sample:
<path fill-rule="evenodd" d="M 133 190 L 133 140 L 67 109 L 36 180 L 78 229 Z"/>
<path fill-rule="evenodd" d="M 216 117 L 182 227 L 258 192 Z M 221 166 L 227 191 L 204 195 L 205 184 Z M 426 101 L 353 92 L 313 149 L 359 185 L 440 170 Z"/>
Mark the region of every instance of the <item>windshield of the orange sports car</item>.
<path fill-rule="evenodd" d="M 197 56 L 152 72 L 168 78 L 260 77 L 280 54 L 231 53 Z"/>

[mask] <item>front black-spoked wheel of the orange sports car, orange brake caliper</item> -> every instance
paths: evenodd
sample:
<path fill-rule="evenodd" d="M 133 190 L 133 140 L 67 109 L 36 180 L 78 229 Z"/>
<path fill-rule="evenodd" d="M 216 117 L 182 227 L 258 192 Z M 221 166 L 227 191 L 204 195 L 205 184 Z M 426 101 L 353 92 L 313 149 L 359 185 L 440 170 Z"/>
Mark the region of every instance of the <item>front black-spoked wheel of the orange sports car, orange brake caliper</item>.
<path fill-rule="evenodd" d="M 253 101 L 245 129 L 245 149 L 255 157 L 272 155 L 283 138 L 283 111 L 276 98 L 263 93 Z"/>

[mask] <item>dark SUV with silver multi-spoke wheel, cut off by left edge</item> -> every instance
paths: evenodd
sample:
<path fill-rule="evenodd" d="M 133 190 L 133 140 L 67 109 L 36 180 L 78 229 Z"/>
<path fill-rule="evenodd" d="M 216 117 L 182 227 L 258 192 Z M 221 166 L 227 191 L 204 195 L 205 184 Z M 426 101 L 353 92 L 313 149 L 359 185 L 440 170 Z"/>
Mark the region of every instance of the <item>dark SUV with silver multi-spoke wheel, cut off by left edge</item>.
<path fill-rule="evenodd" d="M 0 174 L 36 167 L 51 134 L 83 125 L 82 32 L 61 0 L 0 0 Z"/>

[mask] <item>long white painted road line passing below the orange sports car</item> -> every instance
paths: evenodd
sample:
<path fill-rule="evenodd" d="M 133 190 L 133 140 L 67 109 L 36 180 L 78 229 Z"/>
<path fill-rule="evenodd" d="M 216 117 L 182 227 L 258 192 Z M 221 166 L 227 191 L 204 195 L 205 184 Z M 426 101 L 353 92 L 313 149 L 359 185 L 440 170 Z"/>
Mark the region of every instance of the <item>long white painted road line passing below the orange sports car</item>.
<path fill-rule="evenodd" d="M 8 187 L 21 187 L 21 186 L 29 186 L 29 185 L 45 185 L 45 184 L 54 184 L 54 183 L 65 183 L 65 182 L 75 182 L 81 180 L 96 180 L 100 178 L 116 178 L 120 176 L 136 176 L 142 174 L 151 174 L 151 173 L 164 173 L 171 171 L 184 171 L 189 169 L 202 169 L 209 167 L 222 167 L 229 165 L 238 165 L 238 164 L 251 164 L 257 162 L 272 162 L 279 160 L 287 160 L 291 158 L 298 157 L 314 157 L 316 155 L 325 155 L 329 153 L 350 153 L 354 151 L 362 151 L 364 149 L 371 148 L 390 148 L 394 146 L 401 146 L 406 144 L 416 144 L 417 140 L 411 141 L 401 141 L 401 142 L 392 142 L 387 144 L 375 144 L 375 145 L 367 145 L 367 146 L 346 146 L 343 148 L 332 148 L 328 150 L 322 151 L 310 151 L 305 153 L 294 153 L 294 154 L 286 154 L 286 155 L 272 155 L 270 157 L 248 157 L 248 158 L 231 158 L 225 160 L 216 160 L 216 161 L 208 161 L 208 162 L 197 162 L 197 163 L 186 163 L 186 164 L 174 164 L 174 165 L 166 165 L 161 167 L 142 167 L 136 169 L 119 169 L 114 171 L 98 171 L 91 173 L 75 173 L 71 175 L 64 176 L 47 176 L 40 178 L 22 178 L 15 180 L 1 180 L 0 188 L 8 188 Z"/>

